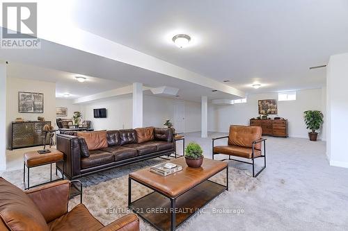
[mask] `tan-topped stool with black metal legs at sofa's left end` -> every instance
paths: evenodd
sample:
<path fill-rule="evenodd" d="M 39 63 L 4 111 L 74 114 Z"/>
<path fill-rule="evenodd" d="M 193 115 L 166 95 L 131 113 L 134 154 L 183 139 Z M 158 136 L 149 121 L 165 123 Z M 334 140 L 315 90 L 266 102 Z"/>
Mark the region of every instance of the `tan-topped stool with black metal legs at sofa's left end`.
<path fill-rule="evenodd" d="M 51 153 L 44 153 L 39 154 L 38 151 L 29 151 L 24 153 L 24 164 L 23 164 L 23 182 L 24 182 L 24 189 L 30 189 L 29 186 L 29 169 L 35 167 L 35 166 L 42 166 L 45 164 L 51 164 L 51 175 L 50 175 L 50 181 L 52 182 L 52 164 L 56 162 L 63 162 L 63 169 L 62 169 L 62 180 L 64 180 L 64 161 L 63 161 L 63 153 L 61 151 L 58 151 L 54 148 L 50 148 L 49 151 Z M 28 187 L 25 187 L 25 166 L 28 169 Z M 56 172 L 57 173 L 57 172 Z M 58 179 L 61 180 L 61 179 Z M 54 180 L 56 181 L 56 180 Z M 40 185 L 46 184 L 42 183 Z M 35 185 L 39 186 L 39 185 Z M 32 187 L 35 187 L 32 186 Z"/>

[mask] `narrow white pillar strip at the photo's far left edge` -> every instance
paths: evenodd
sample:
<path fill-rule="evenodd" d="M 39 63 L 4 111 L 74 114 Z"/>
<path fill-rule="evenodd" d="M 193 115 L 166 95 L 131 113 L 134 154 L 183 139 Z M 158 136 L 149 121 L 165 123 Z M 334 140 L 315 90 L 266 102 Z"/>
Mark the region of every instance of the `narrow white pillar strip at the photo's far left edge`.
<path fill-rule="evenodd" d="M 6 62 L 0 61 L 0 171 L 6 170 Z"/>

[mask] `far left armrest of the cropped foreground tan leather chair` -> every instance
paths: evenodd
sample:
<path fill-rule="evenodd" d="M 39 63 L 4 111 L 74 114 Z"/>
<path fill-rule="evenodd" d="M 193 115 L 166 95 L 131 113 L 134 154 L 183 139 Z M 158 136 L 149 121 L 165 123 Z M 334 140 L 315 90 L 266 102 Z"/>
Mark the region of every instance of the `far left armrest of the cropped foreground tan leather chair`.
<path fill-rule="evenodd" d="M 61 180 L 24 191 L 40 210 L 47 223 L 68 212 L 70 181 Z"/>

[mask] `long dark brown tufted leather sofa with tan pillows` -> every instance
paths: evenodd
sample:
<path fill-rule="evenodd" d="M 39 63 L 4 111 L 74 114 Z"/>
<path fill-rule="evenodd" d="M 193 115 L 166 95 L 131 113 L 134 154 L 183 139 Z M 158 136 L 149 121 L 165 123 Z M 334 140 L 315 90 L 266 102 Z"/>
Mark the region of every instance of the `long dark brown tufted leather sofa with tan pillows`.
<path fill-rule="evenodd" d="M 95 133 L 68 131 L 56 136 L 57 149 L 64 153 L 64 175 L 70 180 L 116 166 L 175 153 L 172 128 L 108 130 L 106 138 L 102 138 L 102 131 L 98 131 L 99 135 L 94 138 L 90 137 L 90 134 Z M 98 143 L 94 144 L 93 139 Z M 93 146 L 89 156 L 84 155 L 84 141 L 89 142 L 89 149 Z M 61 162 L 57 164 L 57 168 L 61 171 Z"/>

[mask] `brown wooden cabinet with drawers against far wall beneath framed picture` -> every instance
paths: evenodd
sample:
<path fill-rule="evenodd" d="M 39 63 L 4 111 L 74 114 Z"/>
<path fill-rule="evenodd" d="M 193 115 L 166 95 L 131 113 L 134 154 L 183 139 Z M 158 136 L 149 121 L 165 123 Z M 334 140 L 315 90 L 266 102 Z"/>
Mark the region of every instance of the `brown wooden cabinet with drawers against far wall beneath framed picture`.
<path fill-rule="evenodd" d="M 262 135 L 288 137 L 287 119 L 251 119 L 251 126 L 260 126 Z"/>

